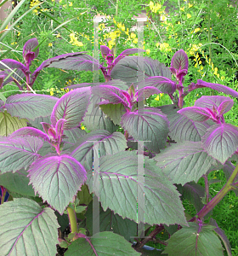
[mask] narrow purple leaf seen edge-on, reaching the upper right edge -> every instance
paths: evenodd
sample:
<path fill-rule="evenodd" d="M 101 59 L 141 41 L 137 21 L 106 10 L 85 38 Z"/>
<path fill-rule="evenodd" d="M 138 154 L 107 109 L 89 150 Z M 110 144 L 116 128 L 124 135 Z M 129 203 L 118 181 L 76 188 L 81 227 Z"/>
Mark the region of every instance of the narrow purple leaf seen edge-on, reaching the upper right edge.
<path fill-rule="evenodd" d="M 202 81 L 200 79 L 197 80 L 196 84 L 192 83 L 189 85 L 189 90 L 195 90 L 197 88 L 203 88 L 203 87 L 208 87 L 211 88 L 212 90 L 218 90 L 219 92 L 224 92 L 225 94 L 229 94 L 233 97 L 238 98 L 238 92 L 227 87 L 224 86 L 223 84 L 212 84 L 212 83 L 207 83 L 205 81 Z"/>

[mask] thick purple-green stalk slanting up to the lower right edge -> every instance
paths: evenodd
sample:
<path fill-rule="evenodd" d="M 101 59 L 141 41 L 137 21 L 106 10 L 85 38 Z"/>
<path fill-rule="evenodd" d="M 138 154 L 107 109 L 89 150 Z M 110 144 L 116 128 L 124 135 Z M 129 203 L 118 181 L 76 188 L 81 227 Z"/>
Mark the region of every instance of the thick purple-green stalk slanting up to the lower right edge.
<path fill-rule="evenodd" d="M 233 189 L 232 183 L 235 180 L 235 177 L 238 174 L 238 164 L 235 167 L 234 172 L 229 177 L 227 183 L 225 183 L 224 187 L 219 191 L 217 195 L 215 195 L 211 201 L 208 202 L 206 206 L 204 206 L 197 215 L 190 219 L 190 222 L 194 222 L 196 218 L 203 218 L 207 215 L 208 212 L 212 211 L 212 209 L 224 198 L 224 196 L 229 192 L 229 190 Z"/>

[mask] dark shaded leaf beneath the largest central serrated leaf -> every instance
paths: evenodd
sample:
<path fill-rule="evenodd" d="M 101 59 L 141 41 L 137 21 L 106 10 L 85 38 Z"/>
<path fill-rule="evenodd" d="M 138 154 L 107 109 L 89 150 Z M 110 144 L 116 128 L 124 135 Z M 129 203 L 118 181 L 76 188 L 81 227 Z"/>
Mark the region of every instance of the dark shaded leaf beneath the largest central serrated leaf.
<path fill-rule="evenodd" d="M 96 197 L 97 198 L 97 197 Z M 93 235 L 93 201 L 88 205 L 88 210 L 85 214 L 86 224 L 89 230 L 89 236 Z M 137 236 L 137 224 L 128 218 L 122 218 L 115 214 L 111 209 L 103 210 L 99 204 L 99 228 L 100 232 L 112 231 L 120 236 L 123 236 L 127 241 L 133 241 L 133 236 Z"/>

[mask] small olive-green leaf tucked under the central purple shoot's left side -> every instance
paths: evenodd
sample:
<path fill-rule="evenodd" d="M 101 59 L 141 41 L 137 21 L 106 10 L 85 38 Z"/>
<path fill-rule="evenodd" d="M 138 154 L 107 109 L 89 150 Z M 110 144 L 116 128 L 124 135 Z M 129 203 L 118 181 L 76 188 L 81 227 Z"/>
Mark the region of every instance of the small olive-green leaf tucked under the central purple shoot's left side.
<path fill-rule="evenodd" d="M 102 111 L 111 118 L 115 125 L 120 125 L 122 115 L 126 113 L 122 103 L 99 105 L 99 108 L 101 108 Z"/>

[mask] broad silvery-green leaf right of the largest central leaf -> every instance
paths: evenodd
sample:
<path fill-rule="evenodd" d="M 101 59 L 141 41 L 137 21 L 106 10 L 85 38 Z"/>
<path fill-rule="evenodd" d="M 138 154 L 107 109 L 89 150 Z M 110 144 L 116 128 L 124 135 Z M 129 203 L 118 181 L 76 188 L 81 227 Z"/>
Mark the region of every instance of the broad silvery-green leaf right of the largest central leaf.
<path fill-rule="evenodd" d="M 171 179 L 173 183 L 188 183 L 199 180 L 216 160 L 209 156 L 201 142 L 184 142 L 173 144 L 164 149 L 154 158 L 157 166 Z"/>

